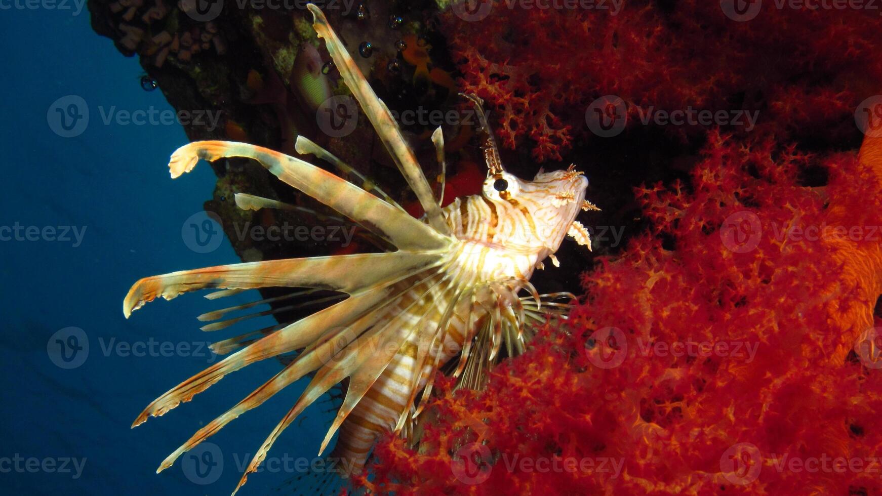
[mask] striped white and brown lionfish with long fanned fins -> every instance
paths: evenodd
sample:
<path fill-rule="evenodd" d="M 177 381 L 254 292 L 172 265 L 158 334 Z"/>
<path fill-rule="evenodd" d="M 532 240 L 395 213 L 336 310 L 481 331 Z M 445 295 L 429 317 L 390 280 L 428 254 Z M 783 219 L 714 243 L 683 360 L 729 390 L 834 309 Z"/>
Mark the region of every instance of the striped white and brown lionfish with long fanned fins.
<path fill-rule="evenodd" d="M 322 11 L 313 4 L 308 7 L 318 37 L 325 40 L 344 82 L 425 214 L 414 218 L 373 186 L 365 187 L 371 193 L 301 159 L 253 144 L 198 141 L 184 145 L 171 156 L 172 178 L 190 172 L 198 159 L 257 160 L 281 181 L 398 248 L 385 253 L 183 270 L 143 278 L 132 286 L 123 303 L 126 317 L 158 296 L 171 300 L 183 292 L 201 289 L 221 290 L 208 294 L 211 299 L 265 287 L 307 288 L 298 294 L 318 290 L 345 293 L 345 300 L 301 320 L 281 324 L 250 344 L 246 338 L 254 333 L 213 344 L 216 352 L 237 348 L 238 351 L 168 390 L 132 424 L 138 426 L 149 416 L 160 416 L 181 402 L 190 401 L 243 366 L 299 352 L 250 396 L 201 428 L 157 470 L 170 467 L 178 456 L 234 418 L 264 403 L 292 382 L 313 374 L 303 395 L 250 461 L 235 491 L 250 472 L 258 469 L 273 441 L 295 417 L 344 379 L 348 378 L 346 395 L 319 451 L 321 455 L 339 430 L 333 456 L 347 462 L 340 463 L 344 467 L 343 477 L 363 469 L 370 448 L 384 431 L 402 436 L 413 432 L 421 406 L 430 396 L 435 374 L 453 357 L 460 356 L 452 371 L 458 380 L 457 387 L 482 387 L 482 377 L 486 378 L 487 370 L 500 358 L 503 343 L 508 356 L 524 352 L 533 335 L 527 319 L 544 322 L 542 311 L 564 316 L 569 303 L 561 301 L 574 299 L 572 294 L 540 295 L 529 278 L 534 269 L 542 267 L 544 259 L 550 258 L 557 264 L 554 253 L 566 235 L 590 249 L 587 229 L 575 218 L 579 210 L 598 210 L 584 198 L 586 177 L 572 166 L 566 171 L 540 171 L 533 181 L 507 173 L 487 126 L 482 101 L 472 95 L 463 96 L 475 104 L 486 134 L 482 148 L 489 169 L 487 179 L 481 195 L 456 198 L 441 208 L 440 198 L 435 197 L 389 109 L 370 88 Z M 444 139 L 440 128 L 432 135 L 432 141 L 443 171 Z M 352 172 L 330 152 L 304 137 L 297 137 L 295 149 Z M 440 195 L 443 191 L 442 187 Z M 237 195 L 235 200 L 242 208 L 280 205 L 250 195 Z M 521 291 L 527 292 L 527 296 L 519 297 Z M 226 308 L 211 313 L 210 318 L 267 301 Z"/>

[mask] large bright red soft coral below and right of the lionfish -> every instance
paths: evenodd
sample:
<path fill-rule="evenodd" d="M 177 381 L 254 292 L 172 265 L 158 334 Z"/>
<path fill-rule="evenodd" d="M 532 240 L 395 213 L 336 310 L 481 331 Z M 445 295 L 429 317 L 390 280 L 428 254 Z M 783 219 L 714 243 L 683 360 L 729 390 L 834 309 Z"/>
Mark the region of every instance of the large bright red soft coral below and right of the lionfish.
<path fill-rule="evenodd" d="M 690 185 L 637 191 L 654 229 L 586 275 L 568 322 L 546 325 L 482 392 L 451 394 L 442 379 L 419 450 L 386 439 L 359 482 L 400 494 L 882 492 L 882 370 L 856 347 L 882 293 L 880 141 L 860 159 L 818 158 L 712 135 Z M 800 186 L 818 164 L 828 184 Z"/>

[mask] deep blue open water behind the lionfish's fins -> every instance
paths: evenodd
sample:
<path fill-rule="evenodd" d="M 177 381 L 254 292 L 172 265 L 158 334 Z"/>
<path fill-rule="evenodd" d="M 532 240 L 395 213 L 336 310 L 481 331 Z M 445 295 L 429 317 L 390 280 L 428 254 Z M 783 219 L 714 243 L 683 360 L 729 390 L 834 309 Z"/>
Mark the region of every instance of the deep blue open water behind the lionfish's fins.
<path fill-rule="evenodd" d="M 237 465 L 295 402 L 303 381 L 212 438 L 221 450 L 220 473 L 213 468 L 216 458 L 195 477 L 188 477 L 181 460 L 154 473 L 191 433 L 280 366 L 274 360 L 249 366 L 191 403 L 130 428 L 153 398 L 213 359 L 205 348 L 202 356 L 191 356 L 199 344 L 233 335 L 203 333 L 195 316 L 221 301 L 232 305 L 254 295 L 214 302 L 183 295 L 123 318 L 123 296 L 138 278 L 239 259 L 226 240 L 210 253 L 188 248 L 182 227 L 211 198 L 213 171 L 202 163 L 176 181 L 169 178 L 168 156 L 187 141 L 176 123 L 104 122 L 102 110 L 170 107 L 161 91 L 141 88 L 136 59 L 123 57 L 111 41 L 93 33 L 85 8 L 73 13 L 45 7 L 0 10 L 5 122 L 0 226 L 86 229 L 78 247 L 75 240 L 0 241 L 0 492 L 228 494 L 240 475 Z M 49 126 L 49 107 L 66 95 L 78 95 L 89 108 L 88 126 L 78 137 L 60 137 Z M 83 330 L 89 351 L 82 365 L 67 369 L 50 358 L 52 347 L 62 345 L 50 337 L 69 327 Z M 125 352 L 126 345 L 151 341 L 157 350 L 162 343 L 183 343 L 191 351 Z M 314 406 L 280 437 L 271 452 L 278 470 L 252 475 L 241 494 L 273 492 L 297 475 L 280 461 L 316 455 L 329 416 L 323 410 L 327 405 Z M 29 468 L 21 461 L 28 458 L 37 459 L 40 468 L 31 470 L 33 463 Z M 81 473 L 71 461 L 60 473 L 65 459 L 82 463 Z"/>

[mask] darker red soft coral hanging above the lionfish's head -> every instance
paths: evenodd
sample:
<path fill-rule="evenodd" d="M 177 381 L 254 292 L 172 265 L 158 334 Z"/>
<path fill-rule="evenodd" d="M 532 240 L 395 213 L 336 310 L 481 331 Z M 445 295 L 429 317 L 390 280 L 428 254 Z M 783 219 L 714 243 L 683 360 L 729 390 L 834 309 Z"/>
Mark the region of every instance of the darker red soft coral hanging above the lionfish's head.
<path fill-rule="evenodd" d="M 853 129 L 856 105 L 882 78 L 882 30 L 871 10 L 766 3 L 741 23 L 706 0 L 664 3 L 673 4 L 668 9 L 624 0 L 616 15 L 492 4 L 474 22 L 448 11 L 442 27 L 464 91 L 495 107 L 505 147 L 528 137 L 539 161 L 559 160 L 574 141 L 594 137 L 587 108 L 609 94 L 627 102 L 631 125 L 692 108 L 725 111 L 730 130 L 758 138 L 834 141 Z M 740 111 L 759 112 L 756 126 Z M 686 137 L 723 121 L 702 124 L 665 129 Z"/>

